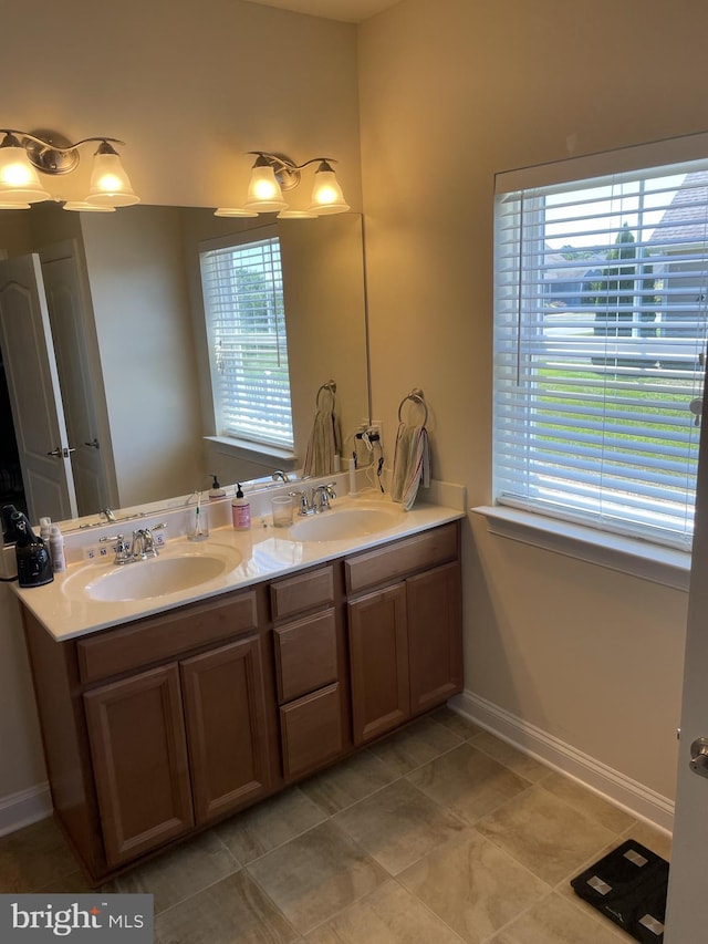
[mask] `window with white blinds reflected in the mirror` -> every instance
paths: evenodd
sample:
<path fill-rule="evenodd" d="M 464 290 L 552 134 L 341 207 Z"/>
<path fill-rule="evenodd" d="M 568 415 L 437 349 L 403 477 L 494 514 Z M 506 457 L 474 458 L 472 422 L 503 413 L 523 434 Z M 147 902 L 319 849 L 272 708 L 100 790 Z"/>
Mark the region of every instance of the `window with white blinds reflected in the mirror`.
<path fill-rule="evenodd" d="M 200 253 L 216 433 L 292 449 L 280 241 L 262 235 Z"/>

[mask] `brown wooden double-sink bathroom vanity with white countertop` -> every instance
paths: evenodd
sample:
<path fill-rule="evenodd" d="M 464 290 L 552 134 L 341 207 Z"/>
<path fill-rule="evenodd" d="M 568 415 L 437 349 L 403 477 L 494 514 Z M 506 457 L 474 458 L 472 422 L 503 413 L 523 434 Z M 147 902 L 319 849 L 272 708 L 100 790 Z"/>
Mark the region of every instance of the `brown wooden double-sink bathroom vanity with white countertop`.
<path fill-rule="evenodd" d="M 19 591 L 55 815 L 91 880 L 460 692 L 461 517 L 428 507 L 373 538 L 291 541 L 287 564 L 264 522 L 225 530 L 248 541 L 230 583 L 149 615 L 112 604 L 97 629 L 75 601 L 66 629 L 61 579 Z"/>

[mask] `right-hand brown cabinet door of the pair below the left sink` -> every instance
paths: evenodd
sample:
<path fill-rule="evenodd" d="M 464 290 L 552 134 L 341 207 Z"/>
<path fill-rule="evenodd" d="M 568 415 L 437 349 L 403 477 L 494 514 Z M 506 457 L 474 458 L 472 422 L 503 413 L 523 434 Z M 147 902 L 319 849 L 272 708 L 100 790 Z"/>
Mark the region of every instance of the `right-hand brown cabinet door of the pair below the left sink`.
<path fill-rule="evenodd" d="M 181 662 L 198 823 L 239 809 L 270 787 L 258 636 Z"/>

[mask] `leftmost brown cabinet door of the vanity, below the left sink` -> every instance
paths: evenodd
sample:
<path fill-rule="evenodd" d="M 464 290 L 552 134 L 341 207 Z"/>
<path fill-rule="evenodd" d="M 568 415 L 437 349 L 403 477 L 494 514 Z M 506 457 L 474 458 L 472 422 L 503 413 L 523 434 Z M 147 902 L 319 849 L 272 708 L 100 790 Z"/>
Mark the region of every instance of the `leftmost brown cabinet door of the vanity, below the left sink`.
<path fill-rule="evenodd" d="M 194 823 L 175 663 L 84 694 L 108 865 L 119 865 Z"/>

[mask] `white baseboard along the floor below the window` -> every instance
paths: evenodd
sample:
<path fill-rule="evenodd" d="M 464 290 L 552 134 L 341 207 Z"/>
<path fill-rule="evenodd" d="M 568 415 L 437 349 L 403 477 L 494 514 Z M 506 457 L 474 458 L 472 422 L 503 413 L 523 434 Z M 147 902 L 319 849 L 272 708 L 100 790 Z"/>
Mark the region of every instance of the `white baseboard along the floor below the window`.
<path fill-rule="evenodd" d="M 674 803 L 667 797 L 472 692 L 465 691 L 461 695 L 456 695 L 449 705 L 469 720 L 509 741 L 530 757 L 575 778 L 632 816 L 671 832 Z"/>

